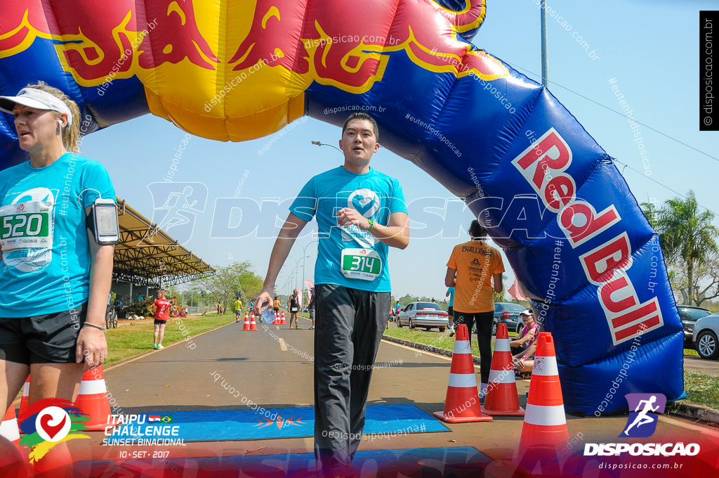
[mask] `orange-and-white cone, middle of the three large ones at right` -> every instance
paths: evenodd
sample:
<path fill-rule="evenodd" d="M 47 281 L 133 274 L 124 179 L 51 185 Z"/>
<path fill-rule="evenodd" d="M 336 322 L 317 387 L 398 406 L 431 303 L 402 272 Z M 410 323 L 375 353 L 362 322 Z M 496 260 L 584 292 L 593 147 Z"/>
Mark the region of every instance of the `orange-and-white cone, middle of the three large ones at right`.
<path fill-rule="evenodd" d="M 482 412 L 487 415 L 524 416 L 524 409 L 519 406 L 517 382 L 514 380 L 512 349 L 509 346 L 507 324 L 500 324 L 497 328 L 490 382 L 487 386 L 487 398 L 485 405 L 482 405 Z"/>

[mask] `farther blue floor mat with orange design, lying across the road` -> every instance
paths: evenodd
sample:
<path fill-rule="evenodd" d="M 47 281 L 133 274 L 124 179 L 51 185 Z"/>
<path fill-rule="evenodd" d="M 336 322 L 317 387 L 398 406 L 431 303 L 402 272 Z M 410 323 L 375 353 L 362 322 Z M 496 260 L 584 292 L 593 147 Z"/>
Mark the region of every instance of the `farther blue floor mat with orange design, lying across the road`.
<path fill-rule="evenodd" d="M 151 413 L 140 414 L 137 423 L 116 427 L 112 436 L 107 437 L 106 443 L 116 443 L 128 438 L 227 441 L 314 436 L 313 407 L 163 412 L 159 416 L 161 420 L 158 421 Z M 170 436 L 168 427 L 175 428 L 176 434 L 172 433 Z M 365 434 L 409 434 L 447 430 L 449 428 L 414 405 L 367 407 Z"/>

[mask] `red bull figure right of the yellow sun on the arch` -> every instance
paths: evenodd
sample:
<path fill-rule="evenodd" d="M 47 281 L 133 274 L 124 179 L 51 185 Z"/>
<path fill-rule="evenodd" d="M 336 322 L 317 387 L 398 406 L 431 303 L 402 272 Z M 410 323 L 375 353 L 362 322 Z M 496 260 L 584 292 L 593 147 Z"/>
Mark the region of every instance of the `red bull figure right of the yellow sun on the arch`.
<path fill-rule="evenodd" d="M 312 71 L 315 80 L 338 88 L 362 93 L 380 81 L 390 53 L 404 50 L 414 63 L 433 71 L 473 73 L 483 79 L 508 74 L 498 60 L 484 52 L 470 52 L 470 45 L 454 37 L 437 35 L 438 17 L 446 30 L 464 32 L 482 23 L 486 6 L 483 1 L 467 2 L 462 12 L 451 12 L 434 1 L 418 6 L 400 2 L 365 2 L 365 12 L 348 14 L 347 4 L 314 4 L 307 12 L 293 1 L 259 0 L 255 6 L 252 30 L 229 63 L 234 70 L 249 68 L 257 62 L 277 61 L 278 65 L 299 74 Z M 422 8 L 423 7 L 423 8 Z M 396 9 L 396 12 L 395 12 Z M 377 18 L 392 18 L 389 31 Z M 364 20 L 364 21 L 363 21 Z M 298 40 L 288 32 L 302 30 Z M 306 52 L 306 57 L 302 53 Z M 288 53 L 291 53 L 288 55 Z M 452 58 L 453 66 L 447 58 Z M 339 68 L 338 68 L 339 66 Z M 462 76 L 462 75 L 458 75 Z"/>

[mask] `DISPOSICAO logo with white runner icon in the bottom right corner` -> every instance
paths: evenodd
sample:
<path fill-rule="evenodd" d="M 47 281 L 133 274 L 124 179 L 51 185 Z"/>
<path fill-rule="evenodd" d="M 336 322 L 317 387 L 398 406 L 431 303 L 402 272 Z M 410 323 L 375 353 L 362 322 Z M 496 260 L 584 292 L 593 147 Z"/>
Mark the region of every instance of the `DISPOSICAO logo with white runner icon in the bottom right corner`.
<path fill-rule="evenodd" d="M 656 431 L 658 415 L 667 407 L 667 397 L 661 393 L 630 393 L 625 395 L 629 417 L 618 438 L 646 438 Z M 633 410 L 633 411 L 631 411 Z M 697 443 L 585 443 L 585 456 L 695 456 Z"/>

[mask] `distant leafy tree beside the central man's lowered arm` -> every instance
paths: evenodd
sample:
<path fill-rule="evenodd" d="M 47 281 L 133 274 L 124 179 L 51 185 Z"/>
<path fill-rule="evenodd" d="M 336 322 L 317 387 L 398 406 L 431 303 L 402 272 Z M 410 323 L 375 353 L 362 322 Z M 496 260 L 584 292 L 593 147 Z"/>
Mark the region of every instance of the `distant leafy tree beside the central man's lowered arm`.
<path fill-rule="evenodd" d="M 235 293 L 242 292 L 242 305 L 257 297 L 262 290 L 262 278 L 250 269 L 249 261 L 234 262 L 229 266 L 216 266 L 214 276 L 202 279 L 202 288 L 214 303 L 222 302 L 224 307 L 232 306 Z"/>

